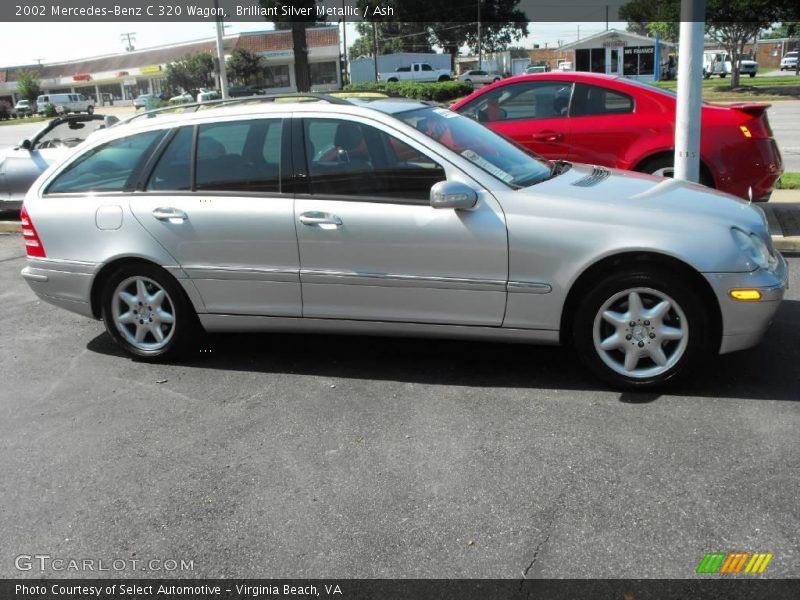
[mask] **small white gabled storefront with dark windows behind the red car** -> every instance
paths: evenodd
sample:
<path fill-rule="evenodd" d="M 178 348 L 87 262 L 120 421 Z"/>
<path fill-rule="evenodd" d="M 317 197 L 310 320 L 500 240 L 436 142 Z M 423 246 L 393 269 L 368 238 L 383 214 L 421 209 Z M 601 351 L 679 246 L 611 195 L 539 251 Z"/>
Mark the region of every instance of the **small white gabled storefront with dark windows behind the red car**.
<path fill-rule="evenodd" d="M 560 50 L 574 53 L 576 71 L 652 80 L 660 77 L 660 63 L 673 48 L 673 44 L 655 38 L 611 29 L 566 44 Z"/>

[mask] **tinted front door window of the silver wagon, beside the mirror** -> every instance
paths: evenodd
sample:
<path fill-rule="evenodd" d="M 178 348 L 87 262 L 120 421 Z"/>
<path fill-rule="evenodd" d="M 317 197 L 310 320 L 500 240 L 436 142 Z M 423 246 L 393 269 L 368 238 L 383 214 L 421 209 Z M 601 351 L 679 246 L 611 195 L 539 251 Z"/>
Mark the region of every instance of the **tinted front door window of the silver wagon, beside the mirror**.
<path fill-rule="evenodd" d="M 427 202 L 444 169 L 405 142 L 369 125 L 335 119 L 305 121 L 311 192 Z"/>

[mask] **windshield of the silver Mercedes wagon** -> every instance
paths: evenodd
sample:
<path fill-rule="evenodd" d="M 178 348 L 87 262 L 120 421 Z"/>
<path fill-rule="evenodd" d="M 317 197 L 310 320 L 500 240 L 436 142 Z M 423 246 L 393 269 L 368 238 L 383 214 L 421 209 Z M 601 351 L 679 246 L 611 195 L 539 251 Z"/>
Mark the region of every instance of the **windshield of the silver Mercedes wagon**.
<path fill-rule="evenodd" d="M 512 187 L 539 183 L 554 172 L 545 159 L 445 108 L 420 108 L 395 116 Z"/>

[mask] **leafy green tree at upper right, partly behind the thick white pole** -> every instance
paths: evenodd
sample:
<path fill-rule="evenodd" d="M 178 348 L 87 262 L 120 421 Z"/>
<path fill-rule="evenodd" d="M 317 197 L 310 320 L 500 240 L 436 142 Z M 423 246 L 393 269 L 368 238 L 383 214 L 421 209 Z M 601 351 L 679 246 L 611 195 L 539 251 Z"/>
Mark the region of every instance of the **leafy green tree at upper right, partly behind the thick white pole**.
<path fill-rule="evenodd" d="M 676 39 L 680 21 L 680 0 L 631 0 L 619 9 L 629 30 L 663 32 Z M 744 45 L 762 29 L 798 13 L 797 0 L 707 0 L 706 33 L 719 42 L 731 57 L 731 87 L 739 86 L 739 57 Z"/>

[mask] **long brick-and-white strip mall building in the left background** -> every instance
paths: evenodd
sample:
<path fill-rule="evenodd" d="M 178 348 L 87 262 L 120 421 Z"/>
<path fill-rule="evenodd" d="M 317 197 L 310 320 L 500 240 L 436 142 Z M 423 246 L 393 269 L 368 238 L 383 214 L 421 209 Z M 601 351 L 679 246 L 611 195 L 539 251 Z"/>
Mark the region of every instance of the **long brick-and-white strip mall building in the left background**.
<path fill-rule="evenodd" d="M 306 36 L 312 89 L 338 89 L 341 87 L 339 29 L 310 28 Z M 264 69 L 253 84 L 267 92 L 297 90 L 290 31 L 256 31 L 225 36 L 223 51 L 226 58 L 235 48 L 244 48 L 262 57 Z M 216 41 L 198 40 L 61 63 L 0 68 L 0 100 L 16 103 L 19 99 L 17 76 L 23 69 L 34 71 L 44 94 L 84 94 L 95 99 L 98 105 L 110 102 L 130 104 L 140 94 L 177 94 L 181 90 L 168 88 L 167 65 L 198 52 L 216 56 Z"/>

